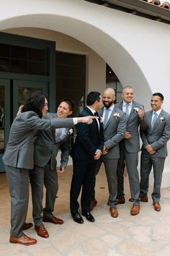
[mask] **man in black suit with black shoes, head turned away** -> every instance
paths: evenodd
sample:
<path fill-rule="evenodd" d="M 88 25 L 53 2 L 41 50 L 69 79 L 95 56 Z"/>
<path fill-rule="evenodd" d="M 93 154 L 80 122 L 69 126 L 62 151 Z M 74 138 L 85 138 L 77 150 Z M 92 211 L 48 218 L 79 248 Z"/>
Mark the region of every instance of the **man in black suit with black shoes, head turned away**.
<path fill-rule="evenodd" d="M 79 116 L 97 115 L 102 104 L 100 93 L 91 92 L 86 98 L 86 108 Z M 94 179 L 94 170 L 97 160 L 102 155 L 104 136 L 103 128 L 99 119 L 95 119 L 89 126 L 76 125 L 76 142 L 71 150 L 73 158 L 73 177 L 70 191 L 71 216 L 77 223 L 84 223 L 79 214 L 78 197 L 81 191 L 82 215 L 87 221 L 94 222 L 94 217 L 90 213 L 91 189 Z"/>

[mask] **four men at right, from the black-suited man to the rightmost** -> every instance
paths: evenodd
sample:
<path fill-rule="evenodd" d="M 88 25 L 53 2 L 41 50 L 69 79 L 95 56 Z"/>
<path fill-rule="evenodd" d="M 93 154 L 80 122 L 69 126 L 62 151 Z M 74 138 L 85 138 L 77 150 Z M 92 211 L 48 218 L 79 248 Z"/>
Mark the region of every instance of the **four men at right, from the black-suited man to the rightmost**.
<path fill-rule="evenodd" d="M 89 102 L 88 98 L 93 98 Z M 125 203 L 124 171 L 128 172 L 130 214 L 140 212 L 140 201 L 148 202 L 149 174 L 153 167 L 153 208 L 161 210 L 161 178 L 167 155 L 166 142 L 170 137 L 170 115 L 161 106 L 164 96 L 153 93 L 151 111 L 145 113 L 144 106 L 133 100 L 134 90 L 126 86 L 122 90 L 122 102 L 114 104 L 115 90 L 107 88 L 101 97 L 98 92 L 87 96 L 86 108 L 81 116 L 100 116 L 92 124 L 77 124 L 76 142 L 71 150 L 73 158 L 73 178 L 71 182 L 71 216 L 77 223 L 84 223 L 79 213 L 78 197 L 81 192 L 82 215 L 94 222 L 91 210 L 97 205 L 95 197 L 96 176 L 104 163 L 109 189 L 110 215 L 117 218 L 118 204 Z M 99 110 L 101 106 L 103 107 Z M 102 124 L 102 125 L 101 125 Z M 96 131 L 96 132 L 95 132 Z M 138 175 L 138 153 L 140 137 L 143 142 L 140 159 L 140 179 Z M 103 145 L 103 148 L 102 148 Z M 101 150 L 102 148 L 102 150 Z"/>

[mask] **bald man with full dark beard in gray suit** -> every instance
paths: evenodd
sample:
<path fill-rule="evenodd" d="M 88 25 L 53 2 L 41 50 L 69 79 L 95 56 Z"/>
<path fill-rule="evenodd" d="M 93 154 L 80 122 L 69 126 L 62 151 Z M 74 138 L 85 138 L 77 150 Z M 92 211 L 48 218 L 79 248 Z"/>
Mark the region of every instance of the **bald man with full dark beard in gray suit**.
<path fill-rule="evenodd" d="M 117 218 L 116 208 L 117 198 L 117 162 L 120 158 L 119 142 L 123 139 L 126 128 L 126 116 L 119 108 L 114 105 L 115 90 L 107 88 L 102 97 L 104 107 L 99 111 L 102 116 L 104 126 L 104 150 L 97 163 L 97 169 L 94 177 L 93 191 L 91 195 L 91 210 L 97 204 L 95 199 L 96 175 L 99 168 L 104 163 L 107 183 L 109 187 L 109 210 L 113 218 Z"/>

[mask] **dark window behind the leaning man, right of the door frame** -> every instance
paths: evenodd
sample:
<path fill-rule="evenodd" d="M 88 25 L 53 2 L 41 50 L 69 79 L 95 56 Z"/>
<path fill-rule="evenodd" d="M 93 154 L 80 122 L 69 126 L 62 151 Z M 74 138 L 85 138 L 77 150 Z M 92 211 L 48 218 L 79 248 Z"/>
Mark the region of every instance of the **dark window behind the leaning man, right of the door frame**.
<path fill-rule="evenodd" d="M 62 98 L 74 101 L 73 116 L 85 106 L 86 56 L 56 52 L 56 103 Z"/>

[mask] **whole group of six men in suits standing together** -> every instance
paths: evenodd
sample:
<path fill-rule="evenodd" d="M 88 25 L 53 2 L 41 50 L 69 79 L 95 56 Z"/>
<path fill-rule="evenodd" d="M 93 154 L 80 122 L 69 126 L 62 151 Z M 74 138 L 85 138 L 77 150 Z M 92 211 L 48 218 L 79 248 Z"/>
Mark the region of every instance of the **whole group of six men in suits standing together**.
<path fill-rule="evenodd" d="M 43 238 L 49 236 L 42 221 L 54 224 L 63 223 L 63 220 L 53 216 L 55 197 L 58 192 L 55 158 L 59 148 L 61 148 L 62 152 L 59 172 L 63 172 L 66 168 L 69 153 L 73 158 L 70 208 L 71 216 L 76 223 L 84 223 L 84 219 L 79 213 L 78 198 L 80 192 L 82 215 L 86 217 L 87 221 L 95 221 L 94 216 L 91 215 L 91 210 L 97 205 L 95 183 L 102 163 L 104 163 L 109 189 L 107 204 L 109 205 L 110 215 L 113 218 L 117 218 L 118 216 L 117 204 L 125 203 L 123 180 L 125 166 L 130 184 L 130 202 L 133 202 L 130 214 L 135 216 L 140 212 L 140 201 L 148 202 L 148 179 L 152 166 L 154 175 L 152 193 L 153 208 L 157 211 L 161 210 L 161 205 L 159 204 L 161 197 L 161 177 L 167 155 L 166 142 L 170 137 L 170 115 L 161 108 L 162 103 L 164 103 L 164 96 L 161 93 L 154 93 L 152 95 L 152 109 L 146 113 L 144 106 L 133 101 L 133 97 L 134 90 L 130 86 L 123 88 L 122 102 L 117 104 L 114 103 L 115 90 L 112 88 L 104 90 L 102 96 L 99 92 L 91 92 L 86 98 L 86 108 L 76 120 L 66 119 L 73 111 L 73 102 L 70 99 L 63 99 L 58 106 L 57 114 L 50 114 L 47 113 L 48 106 L 45 98 L 46 101 L 42 108 L 44 114 L 42 119 L 39 118 L 41 121 L 38 120 L 41 127 L 39 123 L 37 124 L 37 120 L 32 120 L 32 117 L 26 116 L 27 111 L 29 113 L 30 111 L 35 111 L 35 109 L 28 107 L 26 110 L 24 109 L 26 111 L 25 117 L 21 114 L 21 117 L 18 117 L 17 120 L 21 122 L 23 118 L 27 118 L 24 122 L 29 121 L 29 129 L 32 130 L 32 141 L 34 142 L 35 140 L 34 150 L 32 148 L 32 152 L 34 151 L 34 161 L 32 160 L 34 168 L 32 169 L 32 165 L 30 166 L 29 163 L 25 166 L 25 163 L 22 162 L 23 154 L 25 156 L 28 153 L 27 146 L 29 145 L 30 138 L 29 140 L 27 138 L 26 147 L 22 147 L 22 150 L 17 148 L 16 141 L 14 142 L 16 137 L 14 137 L 13 131 L 17 129 L 19 122 L 14 121 L 4 155 L 6 176 L 12 196 L 10 242 L 25 245 L 35 244 L 37 242 L 35 239 L 25 236 L 23 233 L 23 229 L 30 229 L 32 226 L 32 223 L 25 222 L 28 202 L 28 186 L 26 185 L 28 174 L 32 187 L 32 216 L 37 235 Z M 102 103 L 104 106 L 100 110 Z M 38 111 L 36 113 L 38 115 Z M 58 119 L 60 121 L 55 121 Z M 76 141 L 70 151 L 69 128 L 60 127 L 73 127 L 73 124 L 76 124 Z M 56 129 L 58 127 L 59 129 Z M 20 132 L 24 133 L 25 129 L 25 127 L 21 127 Z M 19 136 L 23 139 L 26 135 Z M 140 151 L 140 137 L 143 146 L 139 179 L 138 152 Z M 18 137 L 17 139 L 19 140 Z M 9 155 L 12 153 L 10 148 L 12 144 L 14 144 L 14 151 L 17 148 L 17 153 L 16 158 L 9 160 Z M 19 143 L 20 147 L 21 144 L 23 143 Z M 25 169 L 27 171 L 23 171 Z M 20 176 L 21 174 L 27 177 L 22 177 Z M 18 181 L 14 183 L 13 176 L 15 176 L 16 180 L 18 177 L 21 181 L 24 179 L 25 183 L 21 182 L 23 186 L 21 189 L 22 193 L 21 191 L 14 191 L 18 185 Z M 46 200 L 45 208 L 42 209 L 44 184 Z M 18 195 L 19 193 L 20 195 Z M 20 202 L 23 198 L 26 198 L 24 205 L 23 202 Z M 22 204 L 20 208 L 18 202 Z M 26 208 L 24 214 L 23 207 Z M 41 218 L 42 212 L 43 216 Z"/>

